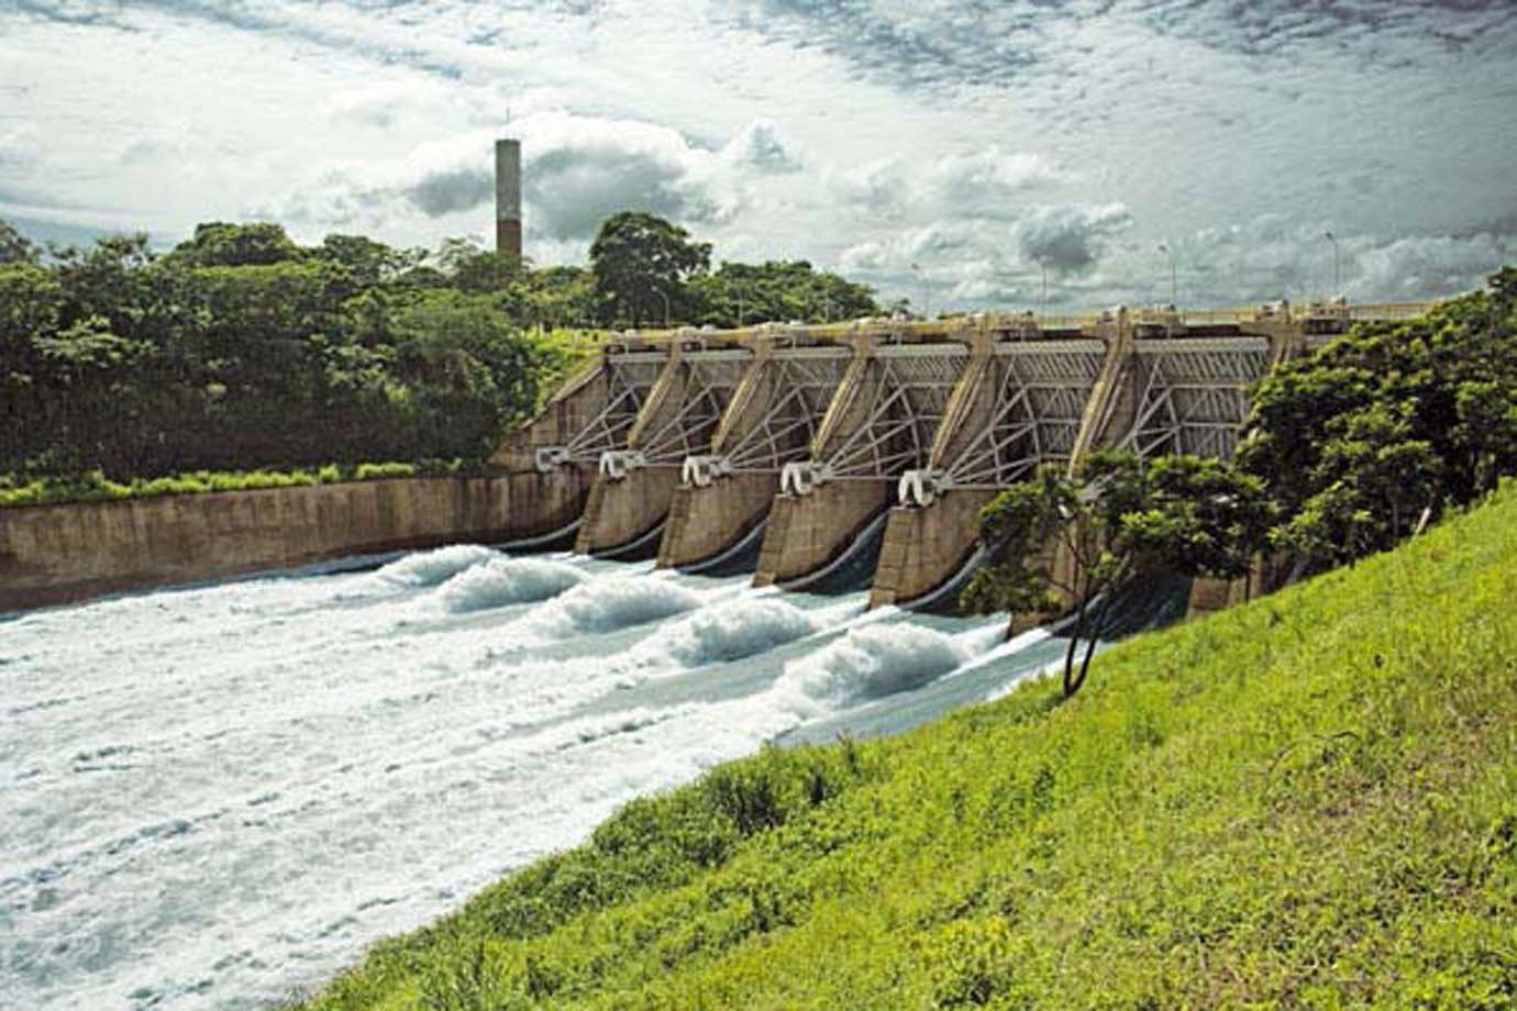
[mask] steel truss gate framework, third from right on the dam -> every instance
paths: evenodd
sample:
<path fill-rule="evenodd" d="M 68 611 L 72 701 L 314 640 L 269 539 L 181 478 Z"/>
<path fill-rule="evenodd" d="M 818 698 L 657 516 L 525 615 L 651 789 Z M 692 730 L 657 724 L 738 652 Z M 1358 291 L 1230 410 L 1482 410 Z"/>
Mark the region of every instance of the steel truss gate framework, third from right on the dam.
<path fill-rule="evenodd" d="M 816 477 L 877 480 L 925 465 L 966 362 L 968 349 L 959 344 L 877 350 L 871 385 L 878 394 L 863 423 L 818 461 Z"/>

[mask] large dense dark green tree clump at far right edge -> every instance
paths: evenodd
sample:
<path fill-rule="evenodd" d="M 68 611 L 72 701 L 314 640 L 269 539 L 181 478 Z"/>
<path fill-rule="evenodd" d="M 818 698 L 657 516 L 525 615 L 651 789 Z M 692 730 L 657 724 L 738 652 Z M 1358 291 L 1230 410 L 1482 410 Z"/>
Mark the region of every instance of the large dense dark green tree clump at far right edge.
<path fill-rule="evenodd" d="M 1241 464 L 1314 567 L 1385 550 L 1517 471 L 1517 271 L 1426 318 L 1367 324 L 1253 393 Z"/>

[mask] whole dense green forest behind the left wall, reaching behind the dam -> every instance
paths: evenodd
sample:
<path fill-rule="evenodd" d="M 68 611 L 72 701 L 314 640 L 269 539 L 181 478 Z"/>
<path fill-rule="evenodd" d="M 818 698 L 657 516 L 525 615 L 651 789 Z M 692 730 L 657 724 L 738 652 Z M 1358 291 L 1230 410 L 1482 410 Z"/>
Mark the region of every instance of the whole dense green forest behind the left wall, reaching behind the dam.
<path fill-rule="evenodd" d="M 463 239 L 302 247 L 276 224 L 202 224 L 165 253 L 144 235 L 41 250 L 0 221 L 0 474 L 71 496 L 200 470 L 469 467 L 596 330 L 875 311 L 810 264 L 710 255 L 645 214 L 608 218 L 587 267 L 543 268 Z"/>

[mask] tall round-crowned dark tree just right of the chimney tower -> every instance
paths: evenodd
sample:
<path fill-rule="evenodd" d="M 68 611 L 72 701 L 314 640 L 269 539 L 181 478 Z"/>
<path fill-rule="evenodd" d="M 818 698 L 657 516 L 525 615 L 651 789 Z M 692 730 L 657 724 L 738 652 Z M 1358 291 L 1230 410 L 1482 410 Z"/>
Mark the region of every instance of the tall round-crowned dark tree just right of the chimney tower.
<path fill-rule="evenodd" d="M 623 211 L 601 224 L 590 244 L 590 273 L 607 321 L 663 320 L 681 303 L 684 283 L 711 264 L 710 243 L 652 214 Z"/>

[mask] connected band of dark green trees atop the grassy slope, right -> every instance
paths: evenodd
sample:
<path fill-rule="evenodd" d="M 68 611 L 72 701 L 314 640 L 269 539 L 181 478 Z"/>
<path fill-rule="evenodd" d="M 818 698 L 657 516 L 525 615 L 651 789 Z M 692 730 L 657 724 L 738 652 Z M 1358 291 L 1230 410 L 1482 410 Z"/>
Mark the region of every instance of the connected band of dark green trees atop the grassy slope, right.
<path fill-rule="evenodd" d="M 1232 461 L 1100 452 L 998 494 L 962 603 L 1073 606 L 1068 696 L 1112 600 L 1145 576 L 1239 579 L 1264 556 L 1321 571 L 1488 494 L 1517 473 L 1517 270 L 1424 318 L 1359 324 L 1274 368 L 1250 403 Z"/>

